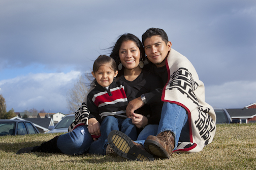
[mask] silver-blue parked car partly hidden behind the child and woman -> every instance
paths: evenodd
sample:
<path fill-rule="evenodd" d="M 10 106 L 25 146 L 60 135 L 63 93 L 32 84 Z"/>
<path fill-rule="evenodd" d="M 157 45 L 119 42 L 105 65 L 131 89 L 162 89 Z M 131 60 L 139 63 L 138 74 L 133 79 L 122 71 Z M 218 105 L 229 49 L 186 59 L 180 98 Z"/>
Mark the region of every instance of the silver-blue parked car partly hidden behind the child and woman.
<path fill-rule="evenodd" d="M 59 133 L 59 132 L 68 132 L 70 124 L 75 120 L 75 114 L 69 114 L 65 117 L 63 117 L 58 124 L 55 126 L 49 126 L 48 132 L 45 132 L 46 134 L 50 133 Z"/>

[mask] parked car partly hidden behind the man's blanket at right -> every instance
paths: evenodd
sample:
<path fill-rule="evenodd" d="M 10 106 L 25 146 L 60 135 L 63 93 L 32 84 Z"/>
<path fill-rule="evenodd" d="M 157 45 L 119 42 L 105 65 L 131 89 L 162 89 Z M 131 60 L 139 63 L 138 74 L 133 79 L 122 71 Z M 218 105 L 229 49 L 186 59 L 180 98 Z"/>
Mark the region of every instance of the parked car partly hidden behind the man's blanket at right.
<path fill-rule="evenodd" d="M 216 123 L 240 123 L 240 120 L 232 120 L 229 112 L 226 109 L 214 109 L 216 113 Z"/>

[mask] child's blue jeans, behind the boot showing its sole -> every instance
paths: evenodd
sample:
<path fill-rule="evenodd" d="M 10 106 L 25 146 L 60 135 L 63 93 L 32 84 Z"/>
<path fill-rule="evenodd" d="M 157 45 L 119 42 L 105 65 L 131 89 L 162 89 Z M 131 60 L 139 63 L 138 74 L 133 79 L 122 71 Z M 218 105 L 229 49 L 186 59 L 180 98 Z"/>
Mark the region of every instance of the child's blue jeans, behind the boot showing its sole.
<path fill-rule="evenodd" d="M 91 144 L 89 153 L 105 155 L 108 144 L 108 135 L 113 130 L 121 131 L 132 140 L 136 140 L 137 138 L 136 126 L 133 124 L 131 118 L 123 119 L 107 116 L 101 123 L 101 137 Z"/>

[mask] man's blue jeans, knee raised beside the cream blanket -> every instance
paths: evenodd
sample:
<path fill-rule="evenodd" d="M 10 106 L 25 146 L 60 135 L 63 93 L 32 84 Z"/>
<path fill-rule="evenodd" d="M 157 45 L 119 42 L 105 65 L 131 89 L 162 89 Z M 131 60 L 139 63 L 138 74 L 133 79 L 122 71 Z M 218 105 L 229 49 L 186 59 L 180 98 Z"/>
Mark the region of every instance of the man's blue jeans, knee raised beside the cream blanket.
<path fill-rule="evenodd" d="M 157 128 L 157 134 L 164 131 L 171 131 L 174 133 L 175 146 L 174 150 L 178 146 L 178 141 L 189 141 L 188 121 L 186 110 L 174 103 L 164 102 L 161 119 L 158 127 L 154 126 L 151 132 L 148 134 L 154 134 Z M 157 135 L 156 134 L 156 135 Z M 146 135 L 142 135 L 145 136 Z M 145 139 L 135 141 L 136 143 L 144 145 Z"/>

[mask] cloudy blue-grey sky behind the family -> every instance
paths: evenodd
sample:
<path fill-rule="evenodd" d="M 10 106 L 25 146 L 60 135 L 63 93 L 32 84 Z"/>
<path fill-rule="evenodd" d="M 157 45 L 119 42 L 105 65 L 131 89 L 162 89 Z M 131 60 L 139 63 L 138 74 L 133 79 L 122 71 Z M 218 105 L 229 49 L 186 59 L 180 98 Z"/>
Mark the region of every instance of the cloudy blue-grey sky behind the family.
<path fill-rule="evenodd" d="M 0 0 L 0 94 L 7 111 L 68 114 L 67 92 L 117 37 L 164 29 L 214 108 L 256 102 L 255 0 Z"/>

